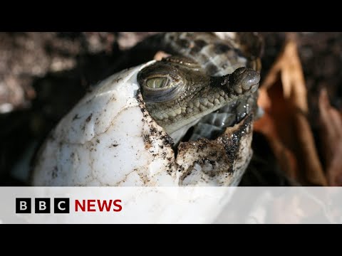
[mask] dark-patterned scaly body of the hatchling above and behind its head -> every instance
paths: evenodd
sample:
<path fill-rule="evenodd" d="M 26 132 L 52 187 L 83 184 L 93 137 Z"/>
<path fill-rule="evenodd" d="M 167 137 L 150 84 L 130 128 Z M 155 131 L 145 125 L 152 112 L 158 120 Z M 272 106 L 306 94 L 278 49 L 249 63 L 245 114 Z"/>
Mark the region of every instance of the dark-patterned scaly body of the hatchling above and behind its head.
<path fill-rule="evenodd" d="M 191 58 L 212 76 L 227 75 L 241 67 L 261 68 L 261 38 L 251 32 L 232 33 L 224 39 L 209 32 L 159 33 L 139 43 L 133 55 L 151 49 Z"/>

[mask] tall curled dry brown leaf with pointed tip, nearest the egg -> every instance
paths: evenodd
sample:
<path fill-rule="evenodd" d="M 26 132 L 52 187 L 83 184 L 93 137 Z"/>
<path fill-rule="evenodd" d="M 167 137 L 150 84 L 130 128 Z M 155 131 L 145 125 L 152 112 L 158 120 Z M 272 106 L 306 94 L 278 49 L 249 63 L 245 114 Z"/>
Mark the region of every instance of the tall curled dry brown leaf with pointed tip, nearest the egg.
<path fill-rule="evenodd" d="M 306 87 L 294 39 L 286 43 L 266 75 L 260 95 L 258 104 L 265 114 L 255 122 L 254 129 L 269 139 L 281 169 L 302 184 L 326 186 L 306 117 Z"/>

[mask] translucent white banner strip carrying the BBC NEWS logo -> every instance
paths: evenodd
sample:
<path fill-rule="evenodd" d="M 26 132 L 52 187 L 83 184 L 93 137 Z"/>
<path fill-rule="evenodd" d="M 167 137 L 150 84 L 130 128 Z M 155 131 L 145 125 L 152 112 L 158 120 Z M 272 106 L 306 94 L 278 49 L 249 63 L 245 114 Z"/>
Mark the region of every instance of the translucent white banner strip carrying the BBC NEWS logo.
<path fill-rule="evenodd" d="M 340 187 L 0 187 L 0 223 L 342 223 Z"/>

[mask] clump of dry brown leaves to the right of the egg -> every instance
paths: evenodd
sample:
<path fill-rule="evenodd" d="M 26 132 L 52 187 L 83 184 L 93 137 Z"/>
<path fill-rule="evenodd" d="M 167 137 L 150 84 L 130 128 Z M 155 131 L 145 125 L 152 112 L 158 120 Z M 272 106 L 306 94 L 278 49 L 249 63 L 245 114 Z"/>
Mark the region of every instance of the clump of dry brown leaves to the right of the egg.
<path fill-rule="evenodd" d="M 318 149 L 308 118 L 305 82 L 296 36 L 289 33 L 260 86 L 258 105 L 264 115 L 254 122 L 254 131 L 264 134 L 291 180 L 303 186 L 341 186 L 342 114 L 331 107 L 323 89 L 318 100 Z"/>

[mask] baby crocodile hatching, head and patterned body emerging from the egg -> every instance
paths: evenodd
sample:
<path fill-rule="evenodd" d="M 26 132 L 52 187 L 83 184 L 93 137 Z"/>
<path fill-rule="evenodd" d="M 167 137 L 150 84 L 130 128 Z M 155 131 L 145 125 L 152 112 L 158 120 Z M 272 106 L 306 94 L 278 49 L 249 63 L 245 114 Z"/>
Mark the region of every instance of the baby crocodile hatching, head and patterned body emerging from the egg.
<path fill-rule="evenodd" d="M 191 139 L 213 139 L 256 109 L 261 43 L 253 33 L 233 35 L 161 33 L 140 45 L 172 54 L 138 81 L 148 112 L 176 143 L 197 122 Z"/>

